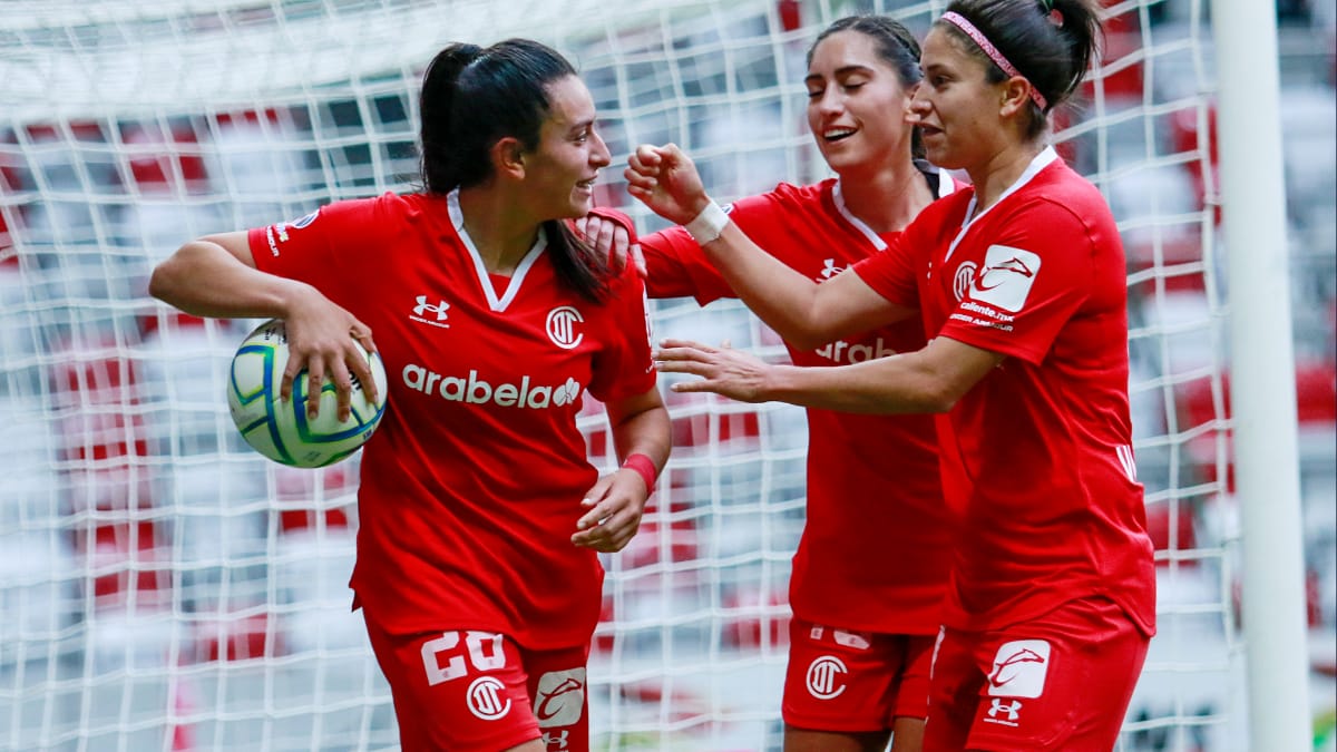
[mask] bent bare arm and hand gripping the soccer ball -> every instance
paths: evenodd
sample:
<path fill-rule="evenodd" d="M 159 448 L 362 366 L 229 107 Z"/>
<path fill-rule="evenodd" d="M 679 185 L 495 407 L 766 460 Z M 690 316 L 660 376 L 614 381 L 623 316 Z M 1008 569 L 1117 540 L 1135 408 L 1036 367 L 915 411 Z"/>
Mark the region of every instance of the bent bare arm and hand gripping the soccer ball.
<path fill-rule="evenodd" d="M 316 288 L 257 269 L 245 231 L 187 242 L 154 269 L 148 292 L 195 316 L 285 320 L 290 355 L 279 393 L 290 399 L 293 379 L 306 368 L 312 415 L 320 408 L 325 376 L 338 393 L 340 420 L 349 416 L 353 376 L 366 387 L 369 399 L 378 399 L 370 367 L 354 344 L 357 340 L 376 351 L 370 326 Z"/>

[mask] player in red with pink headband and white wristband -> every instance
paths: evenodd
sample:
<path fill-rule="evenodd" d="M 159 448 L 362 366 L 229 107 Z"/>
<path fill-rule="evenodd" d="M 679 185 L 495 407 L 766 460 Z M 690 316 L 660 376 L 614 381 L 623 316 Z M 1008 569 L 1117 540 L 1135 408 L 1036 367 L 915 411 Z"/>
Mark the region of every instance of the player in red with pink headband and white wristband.
<path fill-rule="evenodd" d="M 821 285 L 767 256 L 677 147 L 628 190 L 685 223 L 731 288 L 813 347 L 919 313 L 927 347 L 834 368 L 664 343 L 681 391 L 868 413 L 947 413 L 963 510 L 924 749 L 1111 749 L 1155 622 L 1128 416 L 1124 256 L 1099 191 L 1046 143 L 1100 32 L 1095 0 L 953 0 L 910 104 L 931 162 L 973 185 Z"/>

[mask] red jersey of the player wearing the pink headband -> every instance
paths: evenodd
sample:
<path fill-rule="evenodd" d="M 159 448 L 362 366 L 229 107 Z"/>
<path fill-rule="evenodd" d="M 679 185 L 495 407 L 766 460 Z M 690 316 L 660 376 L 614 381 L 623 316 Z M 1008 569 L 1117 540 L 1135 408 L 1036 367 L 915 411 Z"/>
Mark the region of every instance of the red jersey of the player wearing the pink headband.
<path fill-rule="evenodd" d="M 975 191 L 935 202 L 854 266 L 929 336 L 1007 360 L 943 436 L 964 518 L 947 624 L 997 629 L 1103 595 L 1146 634 L 1155 571 L 1128 417 L 1123 245 L 1099 191 L 1044 150 L 967 222 Z"/>

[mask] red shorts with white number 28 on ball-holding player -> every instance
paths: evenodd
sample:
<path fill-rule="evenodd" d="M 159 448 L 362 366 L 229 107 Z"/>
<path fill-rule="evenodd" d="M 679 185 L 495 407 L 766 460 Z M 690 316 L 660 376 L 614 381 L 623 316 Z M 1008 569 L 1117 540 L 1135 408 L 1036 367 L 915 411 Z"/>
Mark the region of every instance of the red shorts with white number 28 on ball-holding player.
<path fill-rule="evenodd" d="M 492 632 L 398 637 L 368 622 L 404 752 L 496 752 L 543 739 L 590 749 L 587 645 L 524 650 Z"/>

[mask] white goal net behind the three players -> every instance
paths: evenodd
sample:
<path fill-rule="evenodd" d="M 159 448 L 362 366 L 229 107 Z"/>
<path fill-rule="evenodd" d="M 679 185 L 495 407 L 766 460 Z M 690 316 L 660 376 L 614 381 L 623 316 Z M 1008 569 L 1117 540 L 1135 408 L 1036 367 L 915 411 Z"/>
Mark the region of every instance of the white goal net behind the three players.
<path fill-rule="evenodd" d="M 853 12 L 923 35 L 945 3 L 21 0 L 0 13 L 0 748 L 380 749 L 397 740 L 349 612 L 357 458 L 261 459 L 223 379 L 254 321 L 151 300 L 189 238 L 412 190 L 416 92 L 447 41 L 578 63 L 615 165 L 677 142 L 722 201 L 826 175 L 804 55 Z M 1138 472 L 1161 634 L 1124 749 L 1245 736 L 1226 500 L 1222 306 L 1201 0 L 1111 3 L 1063 154 L 1128 250 Z M 600 203 L 662 226 L 606 170 Z M 658 335 L 782 356 L 737 304 L 654 305 Z M 600 749 L 778 749 L 804 415 L 668 395 L 675 450 L 606 557 L 590 669 Z M 393 407 L 392 407 L 393 409 Z M 582 419 L 612 467 L 606 424 Z"/>

